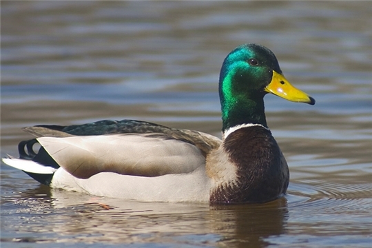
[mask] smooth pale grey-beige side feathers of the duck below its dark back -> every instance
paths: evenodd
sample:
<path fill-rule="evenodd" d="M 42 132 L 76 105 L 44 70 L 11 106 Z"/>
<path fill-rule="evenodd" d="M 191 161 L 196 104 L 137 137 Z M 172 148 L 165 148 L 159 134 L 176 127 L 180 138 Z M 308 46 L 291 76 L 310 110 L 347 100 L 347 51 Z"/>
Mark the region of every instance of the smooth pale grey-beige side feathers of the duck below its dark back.
<path fill-rule="evenodd" d="M 183 174 L 205 165 L 205 156 L 198 147 L 164 134 L 41 137 L 37 141 L 48 156 L 77 178 L 99 172 L 132 176 Z"/>

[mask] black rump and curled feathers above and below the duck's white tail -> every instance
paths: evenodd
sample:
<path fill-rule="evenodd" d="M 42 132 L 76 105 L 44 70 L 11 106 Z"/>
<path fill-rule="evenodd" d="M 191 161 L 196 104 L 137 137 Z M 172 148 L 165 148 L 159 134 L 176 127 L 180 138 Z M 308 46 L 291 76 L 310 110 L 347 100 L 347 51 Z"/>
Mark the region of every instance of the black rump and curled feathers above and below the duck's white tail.
<path fill-rule="evenodd" d="M 39 148 L 38 152 L 34 151 L 34 145 L 39 144 L 36 138 L 28 141 L 21 141 L 18 144 L 19 158 L 31 160 L 37 162 L 41 165 L 49 166 L 58 169 L 59 165 L 54 161 L 54 159 L 45 151 L 43 147 Z M 25 172 L 25 171 L 23 171 Z M 39 183 L 44 185 L 50 185 L 52 181 L 53 174 L 37 174 L 32 172 L 25 172 L 28 176 L 34 178 Z"/>

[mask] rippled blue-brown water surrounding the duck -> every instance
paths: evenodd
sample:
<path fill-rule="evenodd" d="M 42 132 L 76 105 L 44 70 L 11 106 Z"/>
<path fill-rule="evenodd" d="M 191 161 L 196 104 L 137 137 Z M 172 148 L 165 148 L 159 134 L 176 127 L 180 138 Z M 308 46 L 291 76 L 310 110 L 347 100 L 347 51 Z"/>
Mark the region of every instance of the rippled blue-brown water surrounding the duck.
<path fill-rule="evenodd" d="M 220 136 L 220 65 L 247 42 L 317 101 L 265 96 L 291 172 L 288 195 L 265 205 L 98 198 L 1 164 L 2 247 L 371 247 L 369 1 L 6 1 L 1 21 L 1 156 L 41 123 Z"/>

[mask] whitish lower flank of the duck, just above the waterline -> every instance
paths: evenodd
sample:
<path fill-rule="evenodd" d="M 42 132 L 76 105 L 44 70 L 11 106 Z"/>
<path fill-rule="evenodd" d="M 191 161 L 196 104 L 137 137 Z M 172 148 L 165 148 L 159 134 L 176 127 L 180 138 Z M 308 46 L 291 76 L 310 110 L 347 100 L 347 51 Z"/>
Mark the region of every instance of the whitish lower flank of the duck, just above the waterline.
<path fill-rule="evenodd" d="M 76 178 L 61 167 L 54 174 L 50 186 L 94 196 L 145 202 L 208 203 L 210 185 L 204 167 L 192 173 L 154 177 L 101 172 L 87 179 Z"/>

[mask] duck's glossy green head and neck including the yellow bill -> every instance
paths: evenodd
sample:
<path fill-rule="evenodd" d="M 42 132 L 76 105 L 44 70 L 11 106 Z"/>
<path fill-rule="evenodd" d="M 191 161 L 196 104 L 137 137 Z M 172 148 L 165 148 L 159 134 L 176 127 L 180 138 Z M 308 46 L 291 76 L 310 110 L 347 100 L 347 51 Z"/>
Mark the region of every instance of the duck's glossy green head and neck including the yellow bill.
<path fill-rule="evenodd" d="M 276 94 L 289 101 L 315 100 L 293 87 L 282 75 L 276 56 L 262 45 L 240 45 L 227 55 L 220 72 L 223 130 L 244 123 L 267 127 L 263 97 Z"/>

